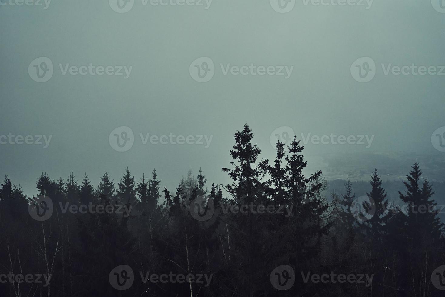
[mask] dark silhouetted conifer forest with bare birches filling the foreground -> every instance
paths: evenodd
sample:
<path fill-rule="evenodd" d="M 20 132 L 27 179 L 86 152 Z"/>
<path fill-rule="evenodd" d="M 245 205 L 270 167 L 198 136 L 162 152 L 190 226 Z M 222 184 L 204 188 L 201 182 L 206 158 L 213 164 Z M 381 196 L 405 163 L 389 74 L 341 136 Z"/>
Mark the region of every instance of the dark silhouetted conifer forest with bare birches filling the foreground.
<path fill-rule="evenodd" d="M 296 137 L 275 160 L 253 138 L 236 131 L 215 169 L 229 185 L 202 170 L 176 189 L 156 170 L 97 186 L 42 173 L 27 197 L 5 176 L 0 296 L 444 296 L 444 224 L 421 164 L 400 182 L 402 206 L 378 169 L 360 200 L 349 181 L 329 191 L 321 171 L 304 174 Z"/>

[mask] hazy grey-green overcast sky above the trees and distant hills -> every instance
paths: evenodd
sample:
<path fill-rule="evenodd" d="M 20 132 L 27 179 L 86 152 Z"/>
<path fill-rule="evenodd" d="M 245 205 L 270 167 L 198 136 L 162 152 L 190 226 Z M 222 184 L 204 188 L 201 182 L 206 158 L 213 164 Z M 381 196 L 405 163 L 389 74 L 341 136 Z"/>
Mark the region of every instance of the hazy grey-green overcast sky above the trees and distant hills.
<path fill-rule="evenodd" d="M 28 195 L 127 167 L 227 184 L 246 123 L 269 160 L 292 134 L 309 160 L 444 156 L 444 0 L 0 0 L 0 25 L 0 174 Z"/>

